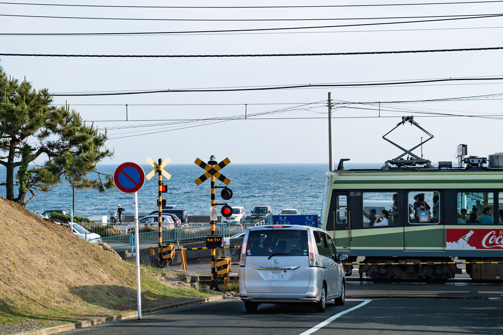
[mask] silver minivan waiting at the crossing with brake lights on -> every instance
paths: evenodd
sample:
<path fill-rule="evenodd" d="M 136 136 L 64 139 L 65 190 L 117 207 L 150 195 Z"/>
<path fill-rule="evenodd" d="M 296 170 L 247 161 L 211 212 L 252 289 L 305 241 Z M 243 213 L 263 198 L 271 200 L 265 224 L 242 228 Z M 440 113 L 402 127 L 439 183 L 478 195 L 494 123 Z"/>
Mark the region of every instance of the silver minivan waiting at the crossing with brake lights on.
<path fill-rule="evenodd" d="M 246 311 L 262 303 L 308 302 L 323 312 L 326 301 L 343 305 L 346 281 L 342 261 L 322 229 L 300 225 L 249 228 L 241 249 L 239 296 Z"/>

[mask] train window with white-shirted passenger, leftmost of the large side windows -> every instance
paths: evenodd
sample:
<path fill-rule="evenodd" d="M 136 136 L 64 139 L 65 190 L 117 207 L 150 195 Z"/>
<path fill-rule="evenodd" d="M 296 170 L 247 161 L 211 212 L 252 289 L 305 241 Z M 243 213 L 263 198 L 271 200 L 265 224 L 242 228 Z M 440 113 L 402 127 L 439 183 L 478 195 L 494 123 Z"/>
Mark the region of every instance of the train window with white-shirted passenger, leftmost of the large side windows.
<path fill-rule="evenodd" d="M 385 211 L 382 215 L 381 213 Z M 363 193 L 363 226 L 379 227 L 398 224 L 398 194 L 395 192 Z"/>

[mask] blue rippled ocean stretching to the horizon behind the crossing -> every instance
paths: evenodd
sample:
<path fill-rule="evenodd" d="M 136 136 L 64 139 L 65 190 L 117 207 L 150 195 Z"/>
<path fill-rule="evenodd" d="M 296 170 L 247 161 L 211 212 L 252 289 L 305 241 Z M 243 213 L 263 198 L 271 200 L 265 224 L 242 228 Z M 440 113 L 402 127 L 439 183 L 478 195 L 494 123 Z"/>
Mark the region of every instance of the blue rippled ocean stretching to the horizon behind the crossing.
<path fill-rule="evenodd" d="M 97 170 L 113 175 L 119 164 L 101 164 Z M 347 169 L 378 168 L 382 163 L 346 163 Z M 141 165 L 145 174 L 152 171 L 148 164 Z M 220 172 L 231 180 L 229 188 L 233 192 L 227 203 L 231 206 L 243 206 L 246 214 L 258 205 L 270 205 L 273 214 L 279 214 L 283 208 L 297 208 L 301 214 L 321 212 L 325 173 L 328 164 L 229 164 Z M 188 215 L 209 215 L 210 181 L 197 186 L 194 181 L 204 170 L 196 164 L 168 164 L 166 172 L 172 175 L 168 181 L 167 193 L 163 193 L 166 204 L 177 205 L 188 210 Z M 5 169 L 0 169 L 0 181 L 6 180 Z M 217 186 L 224 186 L 216 181 Z M 224 202 L 216 190 L 217 203 Z M 157 209 L 157 176 L 145 180 L 138 191 L 138 213 L 146 215 Z M 16 191 L 17 195 L 17 191 Z M 4 186 L 0 187 L 0 196 L 6 196 Z M 28 193 L 27 198 L 30 196 Z M 116 211 L 120 204 L 125 208 L 124 215 L 134 214 L 133 194 L 122 193 L 118 189 L 99 193 L 97 190 L 75 190 L 75 215 L 101 221 L 102 215 Z M 67 182 L 62 182 L 49 192 L 40 192 L 26 205 L 34 212 L 48 209 L 72 208 L 72 189 Z M 220 207 L 219 207 L 220 208 Z"/>

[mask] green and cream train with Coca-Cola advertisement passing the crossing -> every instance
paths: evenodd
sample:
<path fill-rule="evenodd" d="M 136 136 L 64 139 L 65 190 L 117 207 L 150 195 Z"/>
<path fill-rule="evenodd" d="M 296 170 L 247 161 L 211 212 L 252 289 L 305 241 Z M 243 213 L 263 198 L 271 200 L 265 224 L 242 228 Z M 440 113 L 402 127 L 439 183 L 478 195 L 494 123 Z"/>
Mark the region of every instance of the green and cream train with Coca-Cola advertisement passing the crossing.
<path fill-rule="evenodd" d="M 460 150 L 460 147 L 458 147 Z M 466 146 L 461 146 L 466 152 Z M 414 156 L 416 157 L 416 156 Z M 338 252 L 365 263 L 503 261 L 503 154 L 458 157 L 433 166 L 417 159 L 387 161 L 381 169 L 326 173 L 320 223 Z M 396 166 L 392 166 L 395 164 Z M 353 266 L 347 266 L 351 271 Z M 365 265 L 377 282 L 445 282 L 455 264 Z M 503 265 L 466 265 L 475 280 L 503 280 Z"/>

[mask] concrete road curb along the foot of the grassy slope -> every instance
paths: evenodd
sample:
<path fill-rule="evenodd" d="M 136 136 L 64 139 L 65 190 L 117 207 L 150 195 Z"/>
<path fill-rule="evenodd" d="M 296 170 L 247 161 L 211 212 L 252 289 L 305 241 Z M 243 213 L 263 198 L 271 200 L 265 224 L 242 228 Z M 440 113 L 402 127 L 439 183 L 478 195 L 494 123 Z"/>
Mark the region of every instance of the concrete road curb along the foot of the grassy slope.
<path fill-rule="evenodd" d="M 152 313 L 160 312 L 163 310 L 199 305 L 199 304 L 202 304 L 205 302 L 222 300 L 222 299 L 224 299 L 224 297 L 225 297 L 225 295 L 216 295 L 216 296 L 209 297 L 209 298 L 198 298 L 198 299 L 192 299 L 192 300 L 188 300 L 188 301 L 174 302 L 174 303 L 168 304 L 168 305 L 143 309 L 141 311 L 141 314 L 142 315 L 152 314 Z M 87 327 L 91 327 L 91 326 L 98 325 L 98 324 L 119 321 L 119 320 L 126 320 L 126 319 L 131 319 L 134 317 L 138 317 L 137 311 L 124 312 L 121 314 L 115 314 L 115 315 L 109 315 L 109 316 L 102 316 L 102 317 L 94 318 L 92 320 L 83 320 L 83 321 L 78 321 L 78 322 L 66 323 L 66 324 L 61 324 L 58 326 L 52 326 L 52 327 L 48 327 L 48 328 L 15 332 L 15 333 L 11 333 L 9 335 L 56 334 L 56 333 L 63 332 L 63 331 L 79 329 L 79 328 L 87 328 Z"/>

